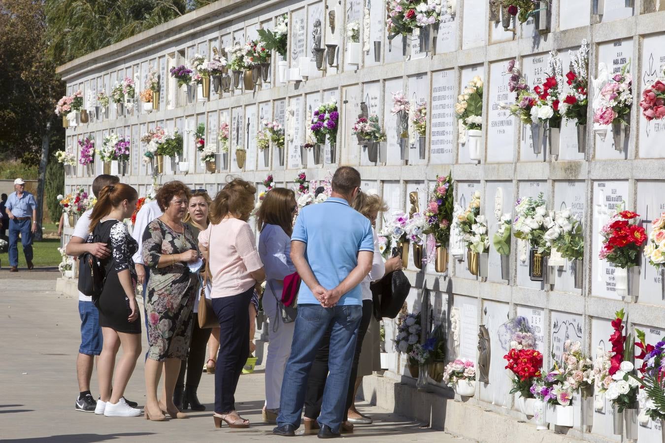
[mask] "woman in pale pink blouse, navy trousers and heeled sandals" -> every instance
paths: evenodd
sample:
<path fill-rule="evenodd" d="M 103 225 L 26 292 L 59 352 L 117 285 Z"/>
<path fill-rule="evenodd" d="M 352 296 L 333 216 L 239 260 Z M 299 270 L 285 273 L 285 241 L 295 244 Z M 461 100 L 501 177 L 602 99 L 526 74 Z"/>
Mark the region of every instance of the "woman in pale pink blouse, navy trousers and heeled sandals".
<path fill-rule="evenodd" d="M 219 319 L 219 354 L 215 369 L 215 426 L 248 428 L 249 420 L 235 410 L 235 388 L 249 357 L 249 303 L 254 287 L 265 280 L 263 263 L 247 220 L 254 209 L 256 188 L 233 179 L 217 193 L 210 224 L 199 234 L 209 255 L 212 307 Z M 213 245 L 210 248 L 209 245 Z"/>

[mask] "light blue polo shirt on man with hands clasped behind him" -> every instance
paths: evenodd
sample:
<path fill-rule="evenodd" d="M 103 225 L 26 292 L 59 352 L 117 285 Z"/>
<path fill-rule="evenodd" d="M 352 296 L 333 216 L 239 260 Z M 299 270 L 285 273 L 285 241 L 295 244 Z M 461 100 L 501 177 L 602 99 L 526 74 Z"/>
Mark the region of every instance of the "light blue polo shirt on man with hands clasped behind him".
<path fill-rule="evenodd" d="M 372 224 L 352 209 L 346 200 L 330 197 L 317 205 L 304 207 L 293 226 L 291 240 L 306 243 L 305 258 L 319 284 L 326 289 L 338 286 L 358 265 L 358 252 L 374 252 Z M 299 304 L 320 304 L 301 283 Z M 362 306 L 360 284 L 344 294 L 337 303 Z"/>

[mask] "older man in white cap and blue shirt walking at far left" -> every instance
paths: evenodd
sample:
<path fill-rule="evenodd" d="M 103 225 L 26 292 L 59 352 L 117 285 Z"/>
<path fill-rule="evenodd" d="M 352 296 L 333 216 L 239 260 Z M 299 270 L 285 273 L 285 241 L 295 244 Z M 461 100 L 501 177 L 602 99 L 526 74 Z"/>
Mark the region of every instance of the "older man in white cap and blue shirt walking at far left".
<path fill-rule="evenodd" d="M 33 234 L 37 231 L 37 202 L 31 193 L 25 191 L 23 179 L 14 180 L 14 190 L 5 203 L 5 211 L 9 215 L 9 272 L 19 271 L 19 234 L 28 269 L 35 267 Z"/>

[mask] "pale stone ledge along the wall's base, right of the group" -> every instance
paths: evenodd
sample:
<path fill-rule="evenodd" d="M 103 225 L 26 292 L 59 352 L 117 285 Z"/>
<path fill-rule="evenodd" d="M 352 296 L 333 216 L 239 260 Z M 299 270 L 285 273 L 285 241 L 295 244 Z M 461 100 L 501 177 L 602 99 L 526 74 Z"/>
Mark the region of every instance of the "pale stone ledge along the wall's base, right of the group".
<path fill-rule="evenodd" d="M 398 377 L 398 379 L 393 377 Z M 399 377 L 401 377 L 401 381 Z M 561 428 L 569 435 L 559 434 L 552 430 L 538 431 L 533 424 L 519 420 L 517 417 L 521 414 L 517 411 L 506 410 L 506 414 L 501 414 L 491 410 L 494 407 L 491 404 L 478 402 L 475 399 L 462 402 L 452 398 L 450 389 L 428 387 L 428 389 L 430 388 L 435 392 L 418 391 L 415 380 L 411 377 L 386 371 L 383 377 L 377 374 L 363 377 L 359 396 L 376 406 L 429 424 L 434 429 L 445 430 L 450 434 L 478 442 L 572 443 L 591 441 L 600 443 L 610 441 L 595 434 L 581 434 L 579 430 L 573 428 Z M 483 423 L 483 426 L 477 426 L 478 423 Z M 469 426 L 469 424 L 473 426 Z"/>

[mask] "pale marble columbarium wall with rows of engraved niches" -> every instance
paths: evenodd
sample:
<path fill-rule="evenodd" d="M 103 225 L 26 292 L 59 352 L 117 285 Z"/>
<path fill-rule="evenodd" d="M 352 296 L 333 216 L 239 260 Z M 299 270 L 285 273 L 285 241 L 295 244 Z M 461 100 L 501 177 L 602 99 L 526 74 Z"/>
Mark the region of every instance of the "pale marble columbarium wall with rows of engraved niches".
<path fill-rule="evenodd" d="M 598 258 L 600 226 L 616 203 L 625 201 L 627 209 L 642 215 L 642 225 L 648 231 L 650 221 L 665 211 L 662 180 L 665 143 L 659 138 L 665 133 L 665 125 L 658 120 L 646 122 L 637 106 L 643 88 L 654 80 L 665 62 L 665 12 L 652 11 L 660 8 L 659 2 L 655 7 L 650 1 L 634 0 L 632 7 L 626 7 L 624 2 L 554 0 L 551 32 L 539 34 L 533 19 L 504 31 L 501 23 L 487 19 L 487 0 L 453 1 L 454 14 L 440 24 L 432 50 L 421 52 L 418 39 L 414 38 L 408 41 L 410 55 L 403 56 L 401 38 L 392 41 L 387 38 L 384 0 L 217 1 L 61 66 L 59 72 L 66 80 L 66 94 L 80 89 L 84 102 L 98 91 L 108 94 L 117 81 L 127 76 L 138 78 L 138 95 L 144 89 L 150 66 L 160 75 L 158 110 L 147 113 L 137 106 L 133 115 L 118 118 L 111 105 L 108 118 L 92 118 L 88 124 L 68 128 L 66 144 L 76 152 L 77 141 L 88 135 L 98 144 L 108 133 L 130 137 L 130 173 L 122 180 L 137 187 L 140 196 L 146 195 L 153 180 L 150 167 L 141 161 L 144 146 L 140 137 L 150 128 L 162 126 L 170 131 L 178 128 L 184 134 L 183 160 L 189 161 L 189 170 L 173 171 L 170 163 L 165 162 L 165 171 L 156 177 L 157 181 L 178 179 L 192 188 L 205 188 L 213 195 L 221 189 L 227 174 L 241 175 L 256 183 L 261 191 L 268 172 L 273 174 L 277 186 L 291 187 L 299 169 L 306 169 L 307 179 L 312 181 L 329 177 L 338 165 L 352 165 L 362 175 L 362 189 L 376 189 L 390 206 L 386 217 L 396 210 L 408 213 L 408 195 L 412 191 L 418 191 L 420 207 L 424 208 L 436 176 L 449 171 L 456 181 L 456 203 L 466 207 L 471 195 L 480 191 L 481 214 L 487 216 L 490 234 L 497 229 L 494 215 L 497 206 L 501 213 L 511 213 L 518 197 L 535 197 L 542 192 L 548 209 L 571 209 L 583 220 L 585 232 L 585 280 L 581 290 L 575 289 L 570 266 L 559 268 L 553 288 L 529 280 L 526 252 L 515 238 L 509 280 L 501 278 L 499 255 L 493 246 L 489 252 L 487 281 L 472 276 L 466 263 L 452 255 L 446 274 L 436 273 L 431 263 L 418 270 L 412 254 L 405 271 L 412 283 L 407 300 L 409 311 L 427 306 L 430 319 L 427 327 L 444 324 L 448 329 L 447 360 L 466 357 L 477 361 L 479 325 L 485 325 L 491 335 L 489 383 L 477 383 L 476 395 L 467 403 L 514 420 L 523 419 L 513 395 L 508 393 L 510 384 L 503 368 L 507 350 L 501 348 L 497 334 L 497 328 L 508 317 L 523 315 L 529 319 L 535 330 L 536 347 L 545 355 L 545 369 L 551 367 L 551 353 L 555 358 L 561 355 L 566 339 L 580 340 L 585 352 L 592 356 L 599 346 L 609 349 L 610 319 L 621 308 L 626 310 L 631 329 L 634 326 L 645 329 L 650 343 L 665 333 L 665 294 L 660 273 L 651 266 L 642 266 L 638 301 L 626 304 L 614 290 L 614 268 Z M 597 3 L 602 7 L 599 11 L 595 11 Z M 334 28 L 329 21 L 332 11 L 336 17 Z M 168 74 L 170 68 L 184 64 L 196 53 L 211 56 L 213 47 L 224 48 L 257 39 L 260 27 L 273 26 L 276 17 L 284 13 L 289 15 L 288 67 L 296 73 L 301 68 L 301 74 L 308 76 L 301 76 L 302 81 L 281 82 L 275 54 L 269 81 L 255 90 L 221 92 L 220 89 L 219 94 L 212 91 L 209 99 L 202 98 L 199 91 L 194 103 L 188 104 L 184 90 Z M 322 45 L 338 44 L 334 66 L 323 70 L 317 70 L 313 61 L 306 66 L 301 61 L 313 54 L 311 36 L 317 20 L 321 21 Z M 346 52 L 344 25 L 353 20 L 361 24 L 362 52 L 358 65 L 348 63 Z M 583 39 L 589 42 L 591 78 L 597 75 L 600 63 L 606 64 L 610 72 L 618 72 L 630 62 L 634 106 L 628 148 L 616 151 L 612 137 L 607 136 L 603 141 L 589 124 L 587 152 L 579 153 L 577 132 L 571 122 L 562 124 L 558 159 L 553 159 L 547 151 L 535 154 L 529 128 L 498 106 L 514 100 L 514 94 L 507 90 L 508 76 L 504 74 L 507 63 L 516 58 L 533 86 L 537 80 L 543 80 L 550 50 L 559 51 L 566 72 L 569 50 L 577 50 Z M 375 48 L 380 53 L 375 54 Z M 479 162 L 469 159 L 466 145 L 458 142 L 454 114 L 458 94 L 474 76 L 483 80 L 485 88 Z M 392 93 L 400 90 L 409 100 L 427 105 L 424 159 L 420 159 L 416 145 L 410 147 L 408 161 L 400 159 L 396 118 L 390 114 Z M 331 98 L 336 98 L 340 110 L 336 156 L 332 158 L 328 148 L 323 166 L 315 166 L 310 152 L 309 167 L 303 167 L 300 145 L 305 143 L 307 115 Z M 360 102 L 368 106 L 370 113 L 378 114 L 386 131 L 387 157 L 382 163 L 370 162 L 366 150 L 351 133 L 360 113 Z M 277 120 L 287 129 L 284 166 L 279 166 L 273 151 L 271 167 L 263 164 L 263 154 L 253 136 L 263 119 Z M 194 147 L 193 131 L 199 123 L 204 123 L 207 143 L 217 143 L 221 122 L 231 126 L 229 167 L 226 171 L 206 173 Z M 243 169 L 235 161 L 237 146 L 247 149 Z M 101 161 L 95 161 L 94 165 L 92 174 L 78 165 L 75 175 L 66 176 L 66 192 L 76 186 L 89 187 L 94 175 L 102 173 Z M 512 215 L 515 216 L 514 212 Z M 66 228 L 65 234 L 70 233 L 71 228 Z M 457 340 L 450 333 L 453 312 Z M 406 358 L 394 353 L 391 339 L 396 334 L 395 323 L 387 320 L 385 323 L 386 348 L 390 353 L 385 376 L 396 382 L 408 380 L 413 385 Z M 428 389 L 450 396 L 445 385 L 432 380 Z M 432 414 L 437 413 L 443 412 L 432 410 Z M 569 436 L 589 441 L 621 441 L 620 436 L 612 433 L 609 403 L 602 410 L 595 410 L 590 428 L 583 428 L 580 415 L 577 408 L 575 427 L 565 430 Z M 640 425 L 639 440 L 660 442 L 660 426 L 652 421 Z M 464 430 L 456 431 L 464 434 Z"/>

